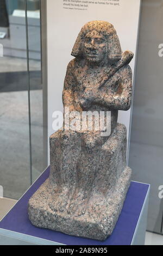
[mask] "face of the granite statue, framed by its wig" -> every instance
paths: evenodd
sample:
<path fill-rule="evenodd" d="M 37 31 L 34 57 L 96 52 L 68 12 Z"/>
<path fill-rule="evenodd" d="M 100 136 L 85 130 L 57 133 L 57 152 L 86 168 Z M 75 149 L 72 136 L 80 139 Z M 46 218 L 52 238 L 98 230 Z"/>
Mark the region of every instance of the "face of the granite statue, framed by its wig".
<path fill-rule="evenodd" d="M 104 36 L 93 30 L 85 35 L 84 55 L 91 63 L 100 64 L 106 59 L 107 44 Z"/>

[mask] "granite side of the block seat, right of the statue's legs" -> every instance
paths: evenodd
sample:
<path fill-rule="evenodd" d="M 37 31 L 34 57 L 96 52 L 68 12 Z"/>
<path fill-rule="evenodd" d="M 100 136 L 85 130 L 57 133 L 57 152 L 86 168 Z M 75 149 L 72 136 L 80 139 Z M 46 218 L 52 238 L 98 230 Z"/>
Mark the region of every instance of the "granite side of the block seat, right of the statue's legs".
<path fill-rule="evenodd" d="M 114 132 L 99 152 L 100 165 L 93 184 L 92 196 L 105 199 L 115 191 L 115 186 L 126 168 L 127 131 L 117 124 Z"/>

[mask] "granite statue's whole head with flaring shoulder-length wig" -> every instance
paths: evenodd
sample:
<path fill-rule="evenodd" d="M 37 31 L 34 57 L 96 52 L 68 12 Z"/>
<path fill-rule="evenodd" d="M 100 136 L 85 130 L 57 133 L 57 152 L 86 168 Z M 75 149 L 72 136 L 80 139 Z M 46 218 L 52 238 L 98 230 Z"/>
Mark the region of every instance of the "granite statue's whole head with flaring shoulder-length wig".
<path fill-rule="evenodd" d="M 80 31 L 71 53 L 92 63 L 118 62 L 122 57 L 120 40 L 114 26 L 105 21 L 86 23 Z"/>

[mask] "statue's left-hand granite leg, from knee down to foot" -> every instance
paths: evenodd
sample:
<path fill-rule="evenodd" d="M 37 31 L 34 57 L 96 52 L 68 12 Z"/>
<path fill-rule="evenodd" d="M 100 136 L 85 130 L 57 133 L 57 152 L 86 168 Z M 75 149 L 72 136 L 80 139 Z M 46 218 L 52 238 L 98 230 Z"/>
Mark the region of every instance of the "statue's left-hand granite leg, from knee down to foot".
<path fill-rule="evenodd" d="M 50 138 L 51 177 L 54 187 L 53 202 L 49 205 L 54 211 L 64 211 L 77 182 L 77 162 L 80 157 L 80 133 L 60 131 Z"/>

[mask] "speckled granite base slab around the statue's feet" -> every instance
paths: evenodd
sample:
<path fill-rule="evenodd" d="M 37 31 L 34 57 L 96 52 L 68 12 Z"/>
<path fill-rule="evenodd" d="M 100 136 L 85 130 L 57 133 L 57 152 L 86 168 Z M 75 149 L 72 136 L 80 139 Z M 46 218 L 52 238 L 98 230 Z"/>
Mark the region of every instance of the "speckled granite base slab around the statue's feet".
<path fill-rule="evenodd" d="M 85 214 L 80 216 L 73 216 L 67 211 L 52 210 L 51 205 L 55 200 L 54 189 L 49 185 L 49 179 L 47 179 L 29 200 L 29 219 L 36 227 L 57 230 L 74 236 L 105 240 L 111 235 L 120 215 L 130 186 L 130 178 L 131 169 L 126 167 L 118 178 L 114 192 L 104 198 L 93 194 Z"/>

